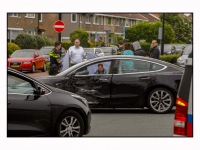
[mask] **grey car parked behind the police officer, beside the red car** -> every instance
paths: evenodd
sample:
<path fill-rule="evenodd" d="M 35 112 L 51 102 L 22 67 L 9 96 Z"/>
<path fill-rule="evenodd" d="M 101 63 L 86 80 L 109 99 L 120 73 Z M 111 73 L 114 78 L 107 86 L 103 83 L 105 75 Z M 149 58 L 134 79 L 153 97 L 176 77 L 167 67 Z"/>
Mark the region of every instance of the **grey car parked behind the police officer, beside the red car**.
<path fill-rule="evenodd" d="M 42 51 L 43 55 L 45 56 L 47 62 L 50 61 L 49 53 L 51 52 L 52 49 L 54 49 L 54 46 L 43 46 L 40 49 Z M 61 56 L 65 57 L 65 55 L 66 55 L 66 50 L 62 47 L 62 49 L 61 49 Z"/>

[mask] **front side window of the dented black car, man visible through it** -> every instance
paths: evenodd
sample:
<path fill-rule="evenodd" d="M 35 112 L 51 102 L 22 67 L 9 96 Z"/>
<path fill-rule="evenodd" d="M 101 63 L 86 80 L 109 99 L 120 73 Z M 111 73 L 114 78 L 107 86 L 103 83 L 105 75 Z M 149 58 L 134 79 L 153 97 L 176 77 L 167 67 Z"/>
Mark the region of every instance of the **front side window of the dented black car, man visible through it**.
<path fill-rule="evenodd" d="M 101 67 L 98 67 L 99 64 L 102 64 L 100 65 Z M 110 66 L 111 66 L 111 61 L 93 63 L 78 69 L 75 75 L 109 74 Z"/>

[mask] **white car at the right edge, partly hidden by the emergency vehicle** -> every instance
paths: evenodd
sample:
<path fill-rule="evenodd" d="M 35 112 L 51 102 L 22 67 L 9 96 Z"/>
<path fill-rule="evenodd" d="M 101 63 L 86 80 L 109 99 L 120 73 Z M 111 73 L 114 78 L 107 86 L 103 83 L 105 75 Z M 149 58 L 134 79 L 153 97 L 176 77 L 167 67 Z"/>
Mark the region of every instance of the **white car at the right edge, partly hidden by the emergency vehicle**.
<path fill-rule="evenodd" d="M 192 52 L 192 45 L 188 45 L 182 55 L 177 59 L 177 65 L 185 67 L 185 60 L 188 58 L 189 54 Z"/>

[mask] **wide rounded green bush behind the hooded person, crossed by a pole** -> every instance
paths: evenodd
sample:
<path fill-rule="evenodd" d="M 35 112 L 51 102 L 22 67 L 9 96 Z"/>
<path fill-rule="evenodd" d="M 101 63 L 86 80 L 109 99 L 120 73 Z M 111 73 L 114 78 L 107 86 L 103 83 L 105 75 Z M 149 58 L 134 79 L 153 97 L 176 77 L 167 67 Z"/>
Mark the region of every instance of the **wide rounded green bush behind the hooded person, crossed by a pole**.
<path fill-rule="evenodd" d="M 158 43 L 158 30 L 159 27 L 162 27 L 160 21 L 155 21 L 153 24 L 146 21 L 139 22 L 138 24 L 132 25 L 130 28 L 126 28 L 126 39 L 129 39 L 129 42 L 145 40 L 147 43 L 151 43 L 152 40 L 157 40 Z M 171 43 L 174 40 L 174 31 L 172 27 L 165 23 L 165 44 Z"/>

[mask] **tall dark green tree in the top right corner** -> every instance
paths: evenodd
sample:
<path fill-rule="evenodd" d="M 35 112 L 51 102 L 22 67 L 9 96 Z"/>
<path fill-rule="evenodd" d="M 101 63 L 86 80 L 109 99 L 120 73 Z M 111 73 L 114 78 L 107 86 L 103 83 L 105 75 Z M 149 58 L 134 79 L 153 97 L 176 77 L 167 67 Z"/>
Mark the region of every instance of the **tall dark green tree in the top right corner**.
<path fill-rule="evenodd" d="M 163 14 L 159 14 L 159 17 L 162 21 Z M 186 43 L 192 40 L 192 21 L 189 21 L 188 18 L 182 18 L 178 13 L 166 13 L 165 21 L 172 26 L 175 32 L 175 39 L 173 42 Z"/>

